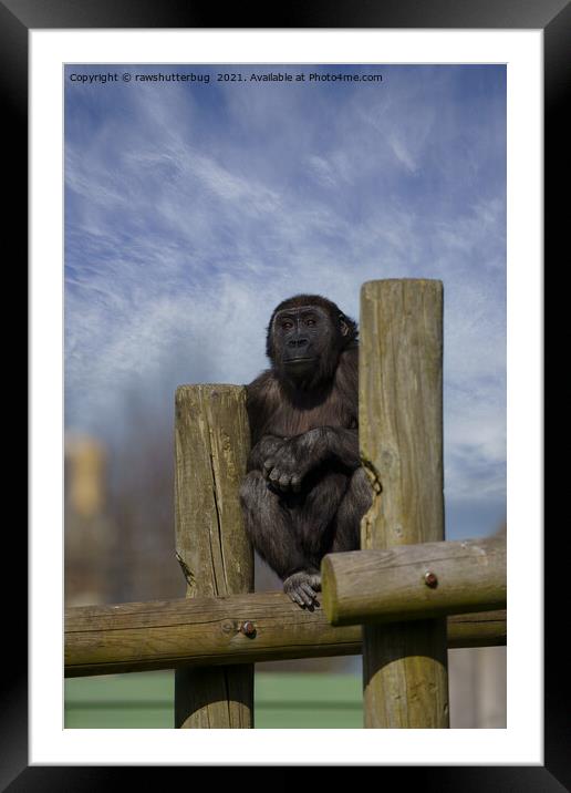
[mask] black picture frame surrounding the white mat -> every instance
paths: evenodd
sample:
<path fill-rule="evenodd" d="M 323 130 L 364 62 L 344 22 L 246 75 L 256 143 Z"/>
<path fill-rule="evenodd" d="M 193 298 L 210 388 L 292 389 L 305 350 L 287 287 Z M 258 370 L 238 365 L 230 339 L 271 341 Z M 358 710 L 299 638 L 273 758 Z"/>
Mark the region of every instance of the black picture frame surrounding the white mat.
<path fill-rule="evenodd" d="M 30 29 L 107 28 L 398 28 L 398 29 L 537 29 L 544 37 L 544 256 L 546 264 L 565 250 L 562 235 L 569 226 L 564 183 L 569 168 L 571 127 L 564 119 L 565 87 L 571 86 L 571 4 L 569 0 L 308 0 L 269 7 L 258 2 L 235 7 L 188 0 L 0 0 L 0 92 L 4 153 L 14 164 L 10 203 L 4 209 L 4 235 L 11 250 L 27 258 L 28 248 L 28 32 Z M 224 19 L 224 24 L 220 24 Z M 567 167 L 565 167 L 567 166 Z M 559 189 L 561 188 L 561 189 Z M 567 240 L 565 240 L 567 241 Z M 17 255 L 12 255 L 17 256 Z M 569 260 L 569 259 L 568 259 Z M 21 265 L 24 270 L 23 262 Z M 546 316 L 547 312 L 546 312 Z M 550 480 L 550 483 L 553 480 Z M 541 483 L 538 483 L 541 486 Z M 556 491 L 557 483 L 549 493 Z M 544 494 L 548 488 L 546 483 Z M 523 494 L 525 495 L 525 494 Z M 547 497 L 546 497 L 547 503 Z M 562 527 L 563 528 L 563 527 Z M 517 527 L 515 528 L 517 531 Z M 4 535 L 4 559 L 27 558 L 27 536 L 19 527 Z M 559 539 L 546 532 L 546 646 L 544 646 L 544 765 L 543 766 L 399 766 L 381 771 L 397 784 L 470 792 L 489 790 L 556 793 L 569 790 L 570 718 L 569 667 L 560 636 L 564 611 L 563 564 Z M 12 563 L 11 563 L 12 564 Z M 28 768 L 27 589 L 9 585 L 10 608 L 4 610 L 4 636 L 10 636 L 9 665 L 2 676 L 0 709 L 0 790 L 101 790 L 122 769 L 110 766 Z M 558 619 L 561 618 L 561 622 Z M 557 630 L 557 627 L 560 630 Z M 6 659 L 4 659 L 6 660 Z M 563 666 L 564 665 L 564 666 Z M 562 674 L 559 674 L 561 666 Z M 567 689 L 564 688 L 567 686 Z M 146 784 L 158 777 L 141 769 Z M 166 772 L 160 768 L 160 774 Z M 170 770 L 170 769 L 169 769 Z M 190 771 L 190 770 L 188 770 Z M 134 782 L 131 776 L 128 783 Z M 190 772 L 191 773 L 191 772 Z M 196 782 L 196 776 L 190 776 Z M 164 784 L 164 776 L 160 777 Z M 248 776 L 241 776 L 248 784 Z M 125 781 L 126 783 L 126 781 Z"/>

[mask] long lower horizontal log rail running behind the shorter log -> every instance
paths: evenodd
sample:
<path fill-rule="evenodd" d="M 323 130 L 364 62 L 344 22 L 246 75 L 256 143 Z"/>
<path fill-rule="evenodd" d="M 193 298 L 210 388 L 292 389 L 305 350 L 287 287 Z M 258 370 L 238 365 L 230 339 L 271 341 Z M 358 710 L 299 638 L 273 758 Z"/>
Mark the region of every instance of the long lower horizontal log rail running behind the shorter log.
<path fill-rule="evenodd" d="M 505 643 L 505 611 L 448 620 L 449 648 Z M 301 610 L 283 593 L 65 611 L 66 677 L 360 652 L 360 626 L 334 628 L 322 608 Z"/>

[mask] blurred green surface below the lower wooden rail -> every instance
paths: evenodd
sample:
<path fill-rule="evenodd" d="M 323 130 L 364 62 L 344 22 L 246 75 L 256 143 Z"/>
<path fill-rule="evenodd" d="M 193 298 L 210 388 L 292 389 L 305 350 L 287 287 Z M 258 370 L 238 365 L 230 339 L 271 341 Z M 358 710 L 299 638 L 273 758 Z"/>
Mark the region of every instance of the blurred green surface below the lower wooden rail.
<path fill-rule="evenodd" d="M 257 728 L 361 728 L 361 677 L 257 672 Z M 66 728 L 173 728 L 174 672 L 133 672 L 65 681 Z"/>

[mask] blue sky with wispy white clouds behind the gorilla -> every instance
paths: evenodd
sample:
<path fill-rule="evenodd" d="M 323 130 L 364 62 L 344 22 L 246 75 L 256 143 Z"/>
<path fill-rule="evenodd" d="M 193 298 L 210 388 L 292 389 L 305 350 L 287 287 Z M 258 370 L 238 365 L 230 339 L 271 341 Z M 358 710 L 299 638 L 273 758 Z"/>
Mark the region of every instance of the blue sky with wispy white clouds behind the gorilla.
<path fill-rule="evenodd" d="M 383 81 L 225 83 L 221 71 Z M 70 80 L 107 72 L 120 80 Z M 158 72 L 210 82 L 135 80 Z M 66 425 L 116 440 L 133 394 L 162 423 L 179 383 L 250 381 L 291 293 L 357 319 L 362 282 L 439 278 L 447 531 L 492 531 L 506 500 L 505 68 L 65 76 Z"/>

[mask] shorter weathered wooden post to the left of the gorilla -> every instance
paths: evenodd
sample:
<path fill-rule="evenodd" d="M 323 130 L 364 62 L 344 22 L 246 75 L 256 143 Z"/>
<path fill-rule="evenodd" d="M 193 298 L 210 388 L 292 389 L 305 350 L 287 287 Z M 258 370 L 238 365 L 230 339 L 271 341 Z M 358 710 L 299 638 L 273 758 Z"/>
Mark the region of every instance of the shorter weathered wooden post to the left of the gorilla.
<path fill-rule="evenodd" d="M 176 549 L 187 597 L 252 591 L 253 555 L 238 497 L 250 446 L 246 389 L 181 385 L 175 405 Z M 247 640 L 239 620 L 221 620 L 219 629 Z M 175 724 L 253 727 L 253 666 L 179 667 Z"/>

